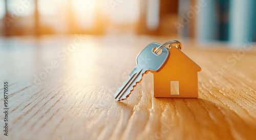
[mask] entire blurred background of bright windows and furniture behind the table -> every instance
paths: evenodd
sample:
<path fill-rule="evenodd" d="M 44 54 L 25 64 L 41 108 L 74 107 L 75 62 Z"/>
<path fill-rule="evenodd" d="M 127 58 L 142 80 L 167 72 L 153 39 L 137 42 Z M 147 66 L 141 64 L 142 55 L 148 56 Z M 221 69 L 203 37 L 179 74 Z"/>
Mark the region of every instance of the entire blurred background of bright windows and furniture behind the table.
<path fill-rule="evenodd" d="M 0 35 L 154 35 L 256 41 L 254 0 L 0 0 Z"/>

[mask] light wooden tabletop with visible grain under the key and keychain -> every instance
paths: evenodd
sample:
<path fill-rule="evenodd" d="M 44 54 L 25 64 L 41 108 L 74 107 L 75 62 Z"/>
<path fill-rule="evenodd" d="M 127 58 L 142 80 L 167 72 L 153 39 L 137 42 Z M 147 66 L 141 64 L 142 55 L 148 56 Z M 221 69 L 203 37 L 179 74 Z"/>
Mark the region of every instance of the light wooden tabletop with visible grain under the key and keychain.
<path fill-rule="evenodd" d="M 256 139 L 256 51 L 247 51 L 250 43 L 234 50 L 179 39 L 202 68 L 198 99 L 154 98 L 148 73 L 127 100 L 114 100 L 141 49 L 170 39 L 177 38 L 0 38 L 2 110 L 4 81 L 9 87 L 8 136 L 2 112 L 0 139 Z"/>

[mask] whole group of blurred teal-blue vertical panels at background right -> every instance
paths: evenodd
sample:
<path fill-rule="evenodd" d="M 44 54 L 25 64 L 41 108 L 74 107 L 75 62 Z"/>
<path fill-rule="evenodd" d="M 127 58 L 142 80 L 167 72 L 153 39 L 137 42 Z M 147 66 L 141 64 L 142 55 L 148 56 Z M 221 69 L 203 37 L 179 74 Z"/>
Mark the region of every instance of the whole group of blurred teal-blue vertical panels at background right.
<path fill-rule="evenodd" d="M 196 24 L 200 42 L 228 41 L 232 46 L 241 47 L 245 39 L 256 41 L 256 1 L 225 0 L 202 4 Z"/>

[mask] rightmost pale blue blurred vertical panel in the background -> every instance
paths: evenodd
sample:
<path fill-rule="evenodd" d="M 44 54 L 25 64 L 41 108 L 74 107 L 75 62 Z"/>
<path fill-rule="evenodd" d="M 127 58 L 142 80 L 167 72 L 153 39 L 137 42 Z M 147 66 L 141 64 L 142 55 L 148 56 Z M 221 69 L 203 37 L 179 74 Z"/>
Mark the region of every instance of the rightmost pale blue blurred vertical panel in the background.
<path fill-rule="evenodd" d="M 233 46 L 256 41 L 256 1 L 230 1 L 229 38 Z"/>

